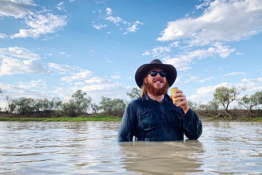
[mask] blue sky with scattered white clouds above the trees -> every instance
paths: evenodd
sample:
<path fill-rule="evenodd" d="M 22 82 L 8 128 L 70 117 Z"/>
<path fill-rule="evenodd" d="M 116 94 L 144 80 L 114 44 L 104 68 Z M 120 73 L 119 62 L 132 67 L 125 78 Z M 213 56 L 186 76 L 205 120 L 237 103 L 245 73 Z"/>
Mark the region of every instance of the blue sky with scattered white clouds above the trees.
<path fill-rule="evenodd" d="M 0 0 L 5 96 L 63 102 L 81 89 L 130 100 L 137 68 L 172 64 L 173 86 L 206 104 L 219 86 L 262 90 L 261 0 Z M 170 94 L 169 89 L 169 94 Z"/>

